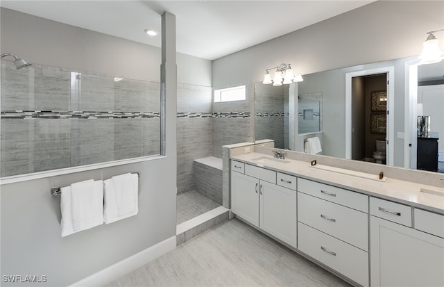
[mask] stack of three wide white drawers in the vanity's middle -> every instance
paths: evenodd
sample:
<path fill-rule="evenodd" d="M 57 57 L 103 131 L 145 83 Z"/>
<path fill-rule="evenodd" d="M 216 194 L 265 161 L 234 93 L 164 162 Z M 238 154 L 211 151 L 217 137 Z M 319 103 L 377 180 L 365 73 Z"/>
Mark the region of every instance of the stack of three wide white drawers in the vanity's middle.
<path fill-rule="evenodd" d="M 298 249 L 368 286 L 368 196 L 299 178 Z"/>

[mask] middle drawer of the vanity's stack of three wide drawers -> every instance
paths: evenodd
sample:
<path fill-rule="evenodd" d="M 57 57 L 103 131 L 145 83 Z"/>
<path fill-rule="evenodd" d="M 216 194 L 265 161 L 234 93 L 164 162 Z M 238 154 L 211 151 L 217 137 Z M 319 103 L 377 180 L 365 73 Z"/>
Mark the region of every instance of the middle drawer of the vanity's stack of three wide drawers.
<path fill-rule="evenodd" d="M 298 192 L 298 221 L 368 251 L 368 213 Z"/>

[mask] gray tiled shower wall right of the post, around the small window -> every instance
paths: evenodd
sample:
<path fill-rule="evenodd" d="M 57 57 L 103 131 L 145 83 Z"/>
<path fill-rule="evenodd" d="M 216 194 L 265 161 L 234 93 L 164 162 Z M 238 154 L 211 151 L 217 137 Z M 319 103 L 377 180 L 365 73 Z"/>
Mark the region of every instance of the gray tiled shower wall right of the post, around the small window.
<path fill-rule="evenodd" d="M 252 86 L 246 90 L 246 101 L 212 103 L 212 87 L 178 84 L 178 194 L 194 190 L 195 159 L 222 158 L 223 145 L 252 140 Z"/>

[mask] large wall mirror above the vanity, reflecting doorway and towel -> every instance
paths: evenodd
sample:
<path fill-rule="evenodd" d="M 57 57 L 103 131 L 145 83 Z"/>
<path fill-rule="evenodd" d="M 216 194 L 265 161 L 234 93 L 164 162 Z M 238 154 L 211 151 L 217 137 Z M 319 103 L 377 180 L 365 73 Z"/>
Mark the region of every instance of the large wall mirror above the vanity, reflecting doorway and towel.
<path fill-rule="evenodd" d="M 292 149 L 304 151 L 304 140 L 310 136 L 318 136 L 321 138 L 321 154 L 325 156 L 382 164 L 388 164 L 387 147 L 391 145 L 392 162 L 390 165 L 415 168 L 411 163 L 407 163 L 407 157 L 404 156 L 407 153 L 404 146 L 408 146 L 412 141 L 411 138 L 406 138 L 407 134 L 404 136 L 404 129 L 407 129 L 405 126 L 406 116 L 412 117 L 411 122 L 414 124 L 412 129 L 416 129 L 417 114 L 410 115 L 408 111 L 405 111 L 406 99 L 411 101 L 408 95 L 406 97 L 406 86 L 409 85 L 409 80 L 405 79 L 405 72 L 406 69 L 409 69 L 408 63 L 416 58 L 400 58 L 306 74 L 303 75 L 303 82 L 291 85 L 273 87 L 260 82 L 255 83 L 255 103 L 257 105 L 255 139 L 279 137 L 279 140 L 275 140 L 275 146 L 279 148 L 291 147 L 291 141 L 294 140 L 296 144 Z M 368 71 L 374 72 L 366 73 Z M 391 75 L 389 75 L 390 73 Z M 350 77 L 352 96 L 351 99 L 347 99 L 346 90 L 348 88 L 345 79 L 350 74 L 356 74 L 356 76 Z M 391 79 L 391 83 L 388 83 L 389 79 Z M 430 129 L 435 132 L 435 136 L 438 134 L 439 138 L 444 138 L 442 113 L 444 110 L 444 61 L 419 65 L 417 79 L 411 81 L 416 81 L 419 91 L 418 99 L 413 104 L 422 104 L 423 114 L 433 114 Z M 427 92 L 428 90 L 432 90 L 432 92 Z M 425 98 L 422 96 L 424 94 L 427 94 Z M 295 99 L 291 99 L 291 97 L 295 97 Z M 315 106 L 313 108 L 309 106 L 309 103 L 314 104 L 314 99 L 310 99 L 310 97 L 318 98 L 320 103 L 318 132 L 307 131 L 305 126 L 299 125 L 300 119 L 304 118 L 304 110 L 306 110 L 307 119 L 314 119 L 317 115 Z M 298 110 L 297 114 L 294 112 L 293 117 L 291 114 L 292 100 L 297 100 L 295 109 Z M 280 108 L 278 107 L 279 102 L 282 102 Z M 274 110 L 264 108 L 271 103 L 274 105 Z M 346 108 L 346 106 L 350 108 Z M 280 122 L 280 125 L 273 125 L 271 122 L 276 119 L 270 120 L 264 116 L 267 115 L 266 110 L 268 113 L 274 111 L 284 113 L 282 120 L 277 121 Z M 311 110 L 313 111 L 311 112 Z M 387 115 L 387 110 L 388 113 L 391 113 L 390 116 Z M 350 121 L 350 126 L 346 126 L 347 121 Z M 297 130 L 294 136 L 290 136 L 293 124 L 297 126 Z M 284 130 L 278 131 L 280 126 Z M 350 140 L 350 151 L 346 150 L 347 140 Z M 391 142 L 388 142 L 389 140 Z M 281 145 L 281 142 L 284 144 Z M 436 171 L 444 172 L 442 170 L 444 139 L 439 139 L 438 143 L 439 157 L 436 155 L 436 158 L 438 158 L 438 165 L 441 168 Z M 383 151 L 382 154 L 386 153 L 386 158 L 378 158 L 377 153 L 375 156 L 376 151 Z M 411 152 L 416 153 L 416 151 Z"/>

